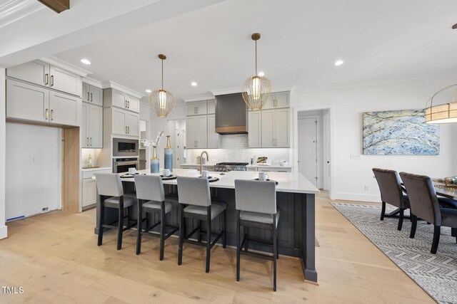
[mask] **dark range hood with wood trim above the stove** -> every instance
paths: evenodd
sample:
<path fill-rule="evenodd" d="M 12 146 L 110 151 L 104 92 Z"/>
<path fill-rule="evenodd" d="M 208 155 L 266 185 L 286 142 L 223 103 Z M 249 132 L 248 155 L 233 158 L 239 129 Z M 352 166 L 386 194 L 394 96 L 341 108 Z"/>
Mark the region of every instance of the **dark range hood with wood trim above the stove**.
<path fill-rule="evenodd" d="M 216 96 L 216 133 L 246 134 L 248 111 L 241 93 Z"/>

